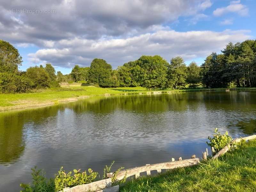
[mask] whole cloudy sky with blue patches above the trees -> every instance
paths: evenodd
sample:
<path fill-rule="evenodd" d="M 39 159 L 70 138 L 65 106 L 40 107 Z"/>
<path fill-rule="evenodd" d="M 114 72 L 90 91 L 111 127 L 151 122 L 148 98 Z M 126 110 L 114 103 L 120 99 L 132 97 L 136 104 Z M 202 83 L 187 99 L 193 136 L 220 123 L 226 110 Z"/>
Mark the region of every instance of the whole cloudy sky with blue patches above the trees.
<path fill-rule="evenodd" d="M 188 65 L 228 42 L 256 37 L 255 0 L 0 0 L 0 39 L 23 58 L 20 70 L 51 63 L 68 74 L 94 58 L 115 69 L 141 55 Z"/>

